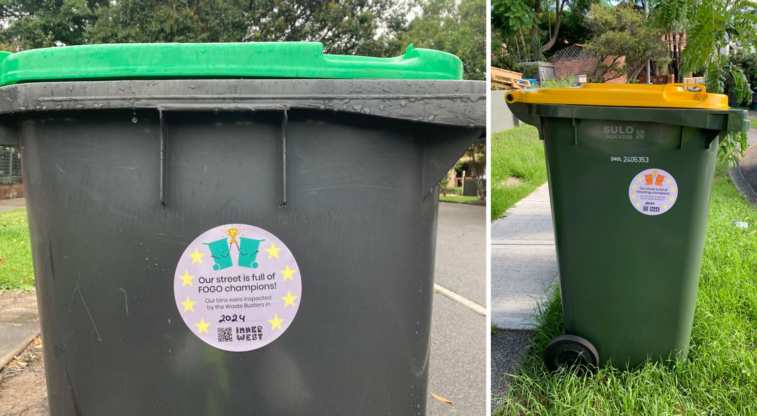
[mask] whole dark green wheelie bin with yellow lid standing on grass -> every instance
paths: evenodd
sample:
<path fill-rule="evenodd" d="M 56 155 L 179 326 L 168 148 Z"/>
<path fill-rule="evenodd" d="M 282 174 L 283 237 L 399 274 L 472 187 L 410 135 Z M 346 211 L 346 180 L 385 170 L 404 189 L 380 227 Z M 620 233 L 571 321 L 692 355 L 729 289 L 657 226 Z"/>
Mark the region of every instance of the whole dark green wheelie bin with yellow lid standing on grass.
<path fill-rule="evenodd" d="M 690 84 L 505 99 L 547 158 L 567 333 L 547 347 L 547 368 L 685 359 L 719 138 L 748 130 L 746 111 Z"/>

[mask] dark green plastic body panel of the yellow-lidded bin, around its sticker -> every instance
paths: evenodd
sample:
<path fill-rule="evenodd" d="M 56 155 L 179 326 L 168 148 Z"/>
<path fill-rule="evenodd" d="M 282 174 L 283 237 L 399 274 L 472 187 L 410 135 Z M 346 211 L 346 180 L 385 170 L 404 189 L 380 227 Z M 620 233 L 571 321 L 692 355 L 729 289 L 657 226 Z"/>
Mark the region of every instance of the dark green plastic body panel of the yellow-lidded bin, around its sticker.
<path fill-rule="evenodd" d="M 605 126 L 617 124 L 646 137 L 606 138 Z M 616 368 L 647 356 L 685 359 L 718 132 L 558 117 L 544 117 L 541 127 L 566 332 L 589 340 L 600 364 Z M 648 161 L 624 161 L 633 157 Z M 680 191 L 656 216 L 638 212 L 628 193 L 651 168 L 673 175 Z"/>

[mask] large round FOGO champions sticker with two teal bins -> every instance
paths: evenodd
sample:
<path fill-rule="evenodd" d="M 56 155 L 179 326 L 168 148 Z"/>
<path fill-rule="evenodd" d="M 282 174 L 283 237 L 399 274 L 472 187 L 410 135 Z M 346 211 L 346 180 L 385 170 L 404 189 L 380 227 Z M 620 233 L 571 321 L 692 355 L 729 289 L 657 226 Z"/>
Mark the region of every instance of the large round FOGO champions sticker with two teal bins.
<path fill-rule="evenodd" d="M 284 334 L 302 300 L 300 268 L 263 228 L 220 225 L 189 244 L 173 283 L 184 323 L 205 343 L 250 351 Z"/>

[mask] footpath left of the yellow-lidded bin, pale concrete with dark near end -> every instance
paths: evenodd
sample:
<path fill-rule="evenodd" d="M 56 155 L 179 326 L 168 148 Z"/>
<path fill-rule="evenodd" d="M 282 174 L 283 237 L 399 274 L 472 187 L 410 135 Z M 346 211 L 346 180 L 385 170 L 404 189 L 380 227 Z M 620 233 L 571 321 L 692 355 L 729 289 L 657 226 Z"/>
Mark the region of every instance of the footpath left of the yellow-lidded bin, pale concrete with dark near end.
<path fill-rule="evenodd" d="M 557 256 L 547 184 L 512 206 L 491 225 L 491 397 L 507 395 L 506 374 L 528 353 L 537 305 L 556 283 Z"/>

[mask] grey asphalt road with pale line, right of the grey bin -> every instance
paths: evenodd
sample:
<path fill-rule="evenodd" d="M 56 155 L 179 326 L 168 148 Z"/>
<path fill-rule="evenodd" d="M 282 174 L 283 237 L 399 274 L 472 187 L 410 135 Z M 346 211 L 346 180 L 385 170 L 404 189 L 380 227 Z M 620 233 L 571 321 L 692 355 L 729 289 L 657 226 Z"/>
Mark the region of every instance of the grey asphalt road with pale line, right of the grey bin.
<path fill-rule="evenodd" d="M 439 203 L 437 284 L 486 306 L 485 206 Z M 486 317 L 437 293 L 431 321 L 428 414 L 486 414 Z"/>

